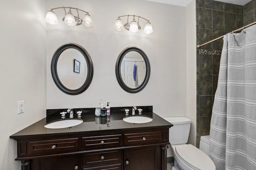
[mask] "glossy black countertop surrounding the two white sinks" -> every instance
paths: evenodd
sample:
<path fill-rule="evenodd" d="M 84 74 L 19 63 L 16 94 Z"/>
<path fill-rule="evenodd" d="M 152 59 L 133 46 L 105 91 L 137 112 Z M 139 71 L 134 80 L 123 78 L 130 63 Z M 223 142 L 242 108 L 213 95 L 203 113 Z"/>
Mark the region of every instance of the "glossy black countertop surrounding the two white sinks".
<path fill-rule="evenodd" d="M 152 107 L 152 106 L 151 106 Z M 142 108 L 142 107 L 141 107 Z M 86 110 L 86 109 L 84 109 Z M 53 111 L 53 109 L 48 110 L 48 114 L 46 118 L 26 127 L 19 132 L 10 136 L 10 138 L 18 139 L 18 138 L 26 138 L 28 136 L 33 137 L 41 137 L 41 136 L 56 136 L 58 134 L 92 134 L 94 132 L 113 132 L 119 131 L 124 129 L 146 129 L 146 128 L 162 128 L 162 127 L 172 127 L 173 125 L 168 121 L 164 120 L 162 117 L 158 116 L 156 113 L 152 112 L 152 109 L 144 108 L 142 115 L 146 115 L 152 117 L 153 121 L 149 123 L 127 123 L 123 121 L 123 118 L 126 116 L 122 111 L 120 111 L 120 107 L 113 108 L 109 116 L 106 117 L 96 117 L 92 111 L 92 108 L 87 109 L 89 111 L 83 111 L 82 120 L 83 123 L 80 125 L 76 125 L 71 128 L 59 128 L 59 129 L 50 129 L 45 128 L 44 125 L 50 121 L 54 121 L 56 119 L 61 119 L 60 115 L 58 117 L 56 114 L 49 114 L 49 113 L 60 113 L 60 111 Z M 119 110 L 116 112 L 115 110 Z M 52 112 L 53 111 L 53 112 Z M 136 114 L 138 115 L 138 114 Z M 129 114 L 131 116 L 131 114 Z M 76 116 L 74 117 L 76 118 Z"/>

